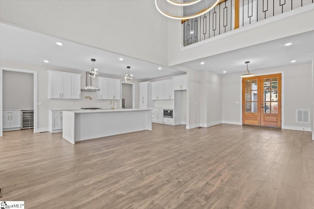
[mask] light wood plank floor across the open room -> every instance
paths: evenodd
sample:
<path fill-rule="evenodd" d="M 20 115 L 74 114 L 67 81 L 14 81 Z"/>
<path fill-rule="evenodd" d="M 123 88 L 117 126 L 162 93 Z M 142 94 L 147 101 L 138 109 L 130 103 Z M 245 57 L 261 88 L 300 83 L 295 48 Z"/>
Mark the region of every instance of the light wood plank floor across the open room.
<path fill-rule="evenodd" d="M 310 132 L 220 124 L 73 145 L 61 133 L 4 132 L 0 201 L 26 209 L 314 209 Z"/>

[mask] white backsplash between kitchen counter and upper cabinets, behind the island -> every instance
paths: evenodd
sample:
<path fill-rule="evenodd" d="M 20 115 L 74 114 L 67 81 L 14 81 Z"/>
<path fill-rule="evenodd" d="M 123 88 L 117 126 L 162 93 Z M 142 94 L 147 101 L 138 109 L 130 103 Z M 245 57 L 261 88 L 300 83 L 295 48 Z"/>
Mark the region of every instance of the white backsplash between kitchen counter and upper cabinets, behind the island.
<path fill-rule="evenodd" d="M 92 99 L 85 98 L 90 96 Z M 79 110 L 80 108 L 110 109 L 110 100 L 97 99 L 97 92 L 81 92 L 81 99 L 49 99 L 49 110 Z M 114 101 L 114 108 L 121 108 L 121 100 Z"/>

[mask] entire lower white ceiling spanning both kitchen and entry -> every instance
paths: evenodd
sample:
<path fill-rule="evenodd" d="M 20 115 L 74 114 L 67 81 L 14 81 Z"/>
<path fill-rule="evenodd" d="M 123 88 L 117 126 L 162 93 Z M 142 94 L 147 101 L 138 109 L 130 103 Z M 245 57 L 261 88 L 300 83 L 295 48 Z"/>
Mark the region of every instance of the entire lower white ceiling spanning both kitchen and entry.
<path fill-rule="evenodd" d="M 55 42 L 62 42 L 57 46 Z M 292 42 L 291 46 L 284 44 Z M 157 64 L 120 56 L 101 49 L 60 40 L 40 33 L 0 23 L 0 61 L 14 61 L 33 65 L 87 71 L 92 68 L 91 58 L 96 59 L 95 68 L 100 74 L 125 76 L 130 74 L 140 80 L 151 80 L 183 74 L 183 71 Z M 136 49 L 135 49 L 136 50 Z M 245 72 L 245 61 L 250 61 L 250 71 L 264 70 L 312 62 L 314 31 L 302 33 L 263 44 L 244 47 L 234 51 L 181 64 L 195 70 L 209 70 L 219 74 Z M 119 58 L 124 58 L 120 61 Z M 49 60 L 44 63 L 43 60 Z M 296 60 L 291 63 L 291 60 Z M 201 62 L 205 62 L 201 65 Z M 158 70 L 161 67 L 162 70 Z"/>

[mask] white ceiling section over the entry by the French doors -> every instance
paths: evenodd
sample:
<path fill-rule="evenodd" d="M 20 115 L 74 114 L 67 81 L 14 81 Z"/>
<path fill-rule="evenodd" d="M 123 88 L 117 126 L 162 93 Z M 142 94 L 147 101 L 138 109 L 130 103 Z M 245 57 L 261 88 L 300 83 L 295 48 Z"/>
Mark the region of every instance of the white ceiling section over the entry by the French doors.
<path fill-rule="evenodd" d="M 292 43 L 285 46 L 286 43 Z M 234 51 L 193 60 L 183 63 L 185 67 L 195 70 L 209 70 L 223 74 L 245 72 L 246 64 L 250 71 L 265 70 L 271 68 L 300 65 L 312 62 L 314 53 L 314 30 L 294 36 L 277 39 L 255 46 L 248 46 Z M 296 60 L 295 63 L 291 63 Z M 200 63 L 204 62 L 204 65 Z"/>

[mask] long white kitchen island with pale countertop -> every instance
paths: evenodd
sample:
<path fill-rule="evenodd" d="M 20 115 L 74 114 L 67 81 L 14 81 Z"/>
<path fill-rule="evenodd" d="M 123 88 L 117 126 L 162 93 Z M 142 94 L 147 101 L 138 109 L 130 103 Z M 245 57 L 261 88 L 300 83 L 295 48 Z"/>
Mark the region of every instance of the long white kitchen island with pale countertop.
<path fill-rule="evenodd" d="M 152 130 L 152 112 L 142 109 L 63 111 L 62 137 L 71 143 Z"/>

